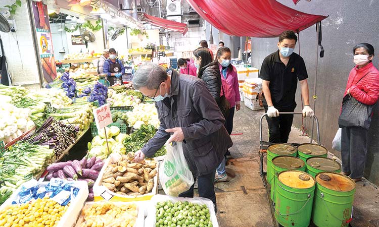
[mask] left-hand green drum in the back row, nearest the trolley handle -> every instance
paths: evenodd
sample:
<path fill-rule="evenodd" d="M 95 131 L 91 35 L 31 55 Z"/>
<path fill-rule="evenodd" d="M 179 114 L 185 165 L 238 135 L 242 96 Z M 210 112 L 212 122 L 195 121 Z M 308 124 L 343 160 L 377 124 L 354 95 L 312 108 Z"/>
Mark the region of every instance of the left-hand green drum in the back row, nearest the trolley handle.
<path fill-rule="evenodd" d="M 274 169 L 272 158 L 277 156 L 294 156 L 297 155 L 297 148 L 288 143 L 274 143 L 267 148 L 267 183 L 271 185 L 274 178 Z"/>

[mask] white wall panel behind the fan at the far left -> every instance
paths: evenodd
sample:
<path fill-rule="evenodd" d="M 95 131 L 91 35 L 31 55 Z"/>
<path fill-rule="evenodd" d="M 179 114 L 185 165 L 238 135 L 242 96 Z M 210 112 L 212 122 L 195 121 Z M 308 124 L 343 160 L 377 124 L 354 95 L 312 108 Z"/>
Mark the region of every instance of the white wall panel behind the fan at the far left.
<path fill-rule="evenodd" d="M 22 5 L 17 8 L 14 15 L 17 26 L 16 32 L 0 32 L 8 62 L 8 70 L 14 85 L 39 84 L 37 59 L 26 1 L 21 0 Z M 12 0 L 2 0 L 0 1 L 0 6 L 12 5 L 14 2 Z"/>

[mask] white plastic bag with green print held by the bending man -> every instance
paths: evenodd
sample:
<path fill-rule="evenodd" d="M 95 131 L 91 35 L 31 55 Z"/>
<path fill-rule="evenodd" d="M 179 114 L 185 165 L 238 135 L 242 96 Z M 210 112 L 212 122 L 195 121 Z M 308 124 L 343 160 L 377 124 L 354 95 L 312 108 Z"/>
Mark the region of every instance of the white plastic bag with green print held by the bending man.
<path fill-rule="evenodd" d="M 194 177 L 188 168 L 181 142 L 166 145 L 167 154 L 159 167 L 160 182 L 166 195 L 177 197 L 194 184 Z"/>

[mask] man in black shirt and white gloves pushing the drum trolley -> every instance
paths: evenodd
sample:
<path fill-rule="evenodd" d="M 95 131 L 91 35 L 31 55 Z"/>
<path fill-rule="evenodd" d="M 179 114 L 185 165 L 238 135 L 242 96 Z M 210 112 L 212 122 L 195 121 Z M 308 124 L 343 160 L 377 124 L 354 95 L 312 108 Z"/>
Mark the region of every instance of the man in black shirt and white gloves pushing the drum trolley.
<path fill-rule="evenodd" d="M 268 55 L 259 72 L 263 80 L 263 105 L 267 112 L 269 142 L 287 143 L 291 132 L 293 115 L 280 115 L 279 112 L 293 112 L 296 107 L 295 93 L 300 81 L 304 99 L 304 117 L 313 117 L 309 105 L 308 74 L 303 58 L 294 53 L 297 36 L 293 31 L 284 31 L 279 36 L 278 50 Z"/>

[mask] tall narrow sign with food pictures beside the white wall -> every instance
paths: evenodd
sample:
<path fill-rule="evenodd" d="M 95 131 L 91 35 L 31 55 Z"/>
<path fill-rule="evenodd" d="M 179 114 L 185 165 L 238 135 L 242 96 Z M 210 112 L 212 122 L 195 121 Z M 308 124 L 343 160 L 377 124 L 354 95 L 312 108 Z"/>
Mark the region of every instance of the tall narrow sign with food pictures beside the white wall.
<path fill-rule="evenodd" d="M 52 33 L 48 7 L 42 2 L 32 2 L 35 31 L 39 50 L 39 59 L 42 65 L 43 81 L 52 82 L 57 77 L 55 65 Z"/>

